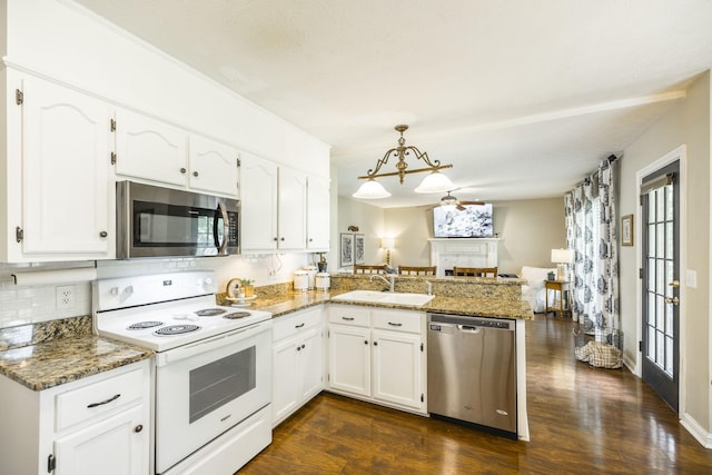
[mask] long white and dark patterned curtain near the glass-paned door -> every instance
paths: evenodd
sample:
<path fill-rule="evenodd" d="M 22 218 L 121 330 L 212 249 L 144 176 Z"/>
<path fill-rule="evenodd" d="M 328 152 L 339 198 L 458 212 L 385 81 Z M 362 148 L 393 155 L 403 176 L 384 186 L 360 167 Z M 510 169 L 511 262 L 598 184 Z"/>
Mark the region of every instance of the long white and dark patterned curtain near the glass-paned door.
<path fill-rule="evenodd" d="M 617 240 L 610 160 L 564 197 L 566 245 L 574 249 L 572 316 L 584 331 L 617 328 Z M 599 333 L 599 331 L 595 331 Z"/>

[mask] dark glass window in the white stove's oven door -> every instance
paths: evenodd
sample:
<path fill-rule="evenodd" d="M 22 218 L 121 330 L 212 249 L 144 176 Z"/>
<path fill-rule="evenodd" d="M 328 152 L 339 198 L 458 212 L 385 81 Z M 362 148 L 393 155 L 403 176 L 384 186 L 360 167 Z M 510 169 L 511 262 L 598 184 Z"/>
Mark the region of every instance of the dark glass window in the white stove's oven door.
<path fill-rule="evenodd" d="M 192 369 L 189 376 L 190 424 L 254 389 L 256 365 L 253 346 Z"/>

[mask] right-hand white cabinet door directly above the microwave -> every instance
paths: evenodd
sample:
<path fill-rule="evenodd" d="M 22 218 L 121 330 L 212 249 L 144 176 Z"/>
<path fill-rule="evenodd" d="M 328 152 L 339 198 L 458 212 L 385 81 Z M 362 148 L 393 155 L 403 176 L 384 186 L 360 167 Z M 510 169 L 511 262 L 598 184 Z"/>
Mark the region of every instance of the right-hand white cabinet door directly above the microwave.
<path fill-rule="evenodd" d="M 236 149 L 190 136 L 190 188 L 238 198 L 237 161 Z"/>

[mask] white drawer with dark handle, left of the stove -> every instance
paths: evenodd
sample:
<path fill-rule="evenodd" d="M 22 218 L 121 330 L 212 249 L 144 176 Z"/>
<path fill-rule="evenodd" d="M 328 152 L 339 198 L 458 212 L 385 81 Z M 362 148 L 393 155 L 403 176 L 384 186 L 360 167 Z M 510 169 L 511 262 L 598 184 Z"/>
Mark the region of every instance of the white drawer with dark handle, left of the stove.
<path fill-rule="evenodd" d="M 99 380 L 78 389 L 56 396 L 56 431 L 62 431 L 75 424 L 113 410 L 129 403 L 141 402 L 144 390 L 144 370 L 123 373 Z"/>

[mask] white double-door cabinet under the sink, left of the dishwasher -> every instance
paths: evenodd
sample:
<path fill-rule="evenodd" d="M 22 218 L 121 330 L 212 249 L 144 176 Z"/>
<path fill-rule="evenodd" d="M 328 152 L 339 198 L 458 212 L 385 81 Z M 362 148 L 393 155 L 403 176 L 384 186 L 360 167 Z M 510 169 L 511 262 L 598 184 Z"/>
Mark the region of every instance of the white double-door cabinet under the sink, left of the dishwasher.
<path fill-rule="evenodd" d="M 330 306 L 329 390 L 425 414 L 424 338 L 423 313 Z"/>

